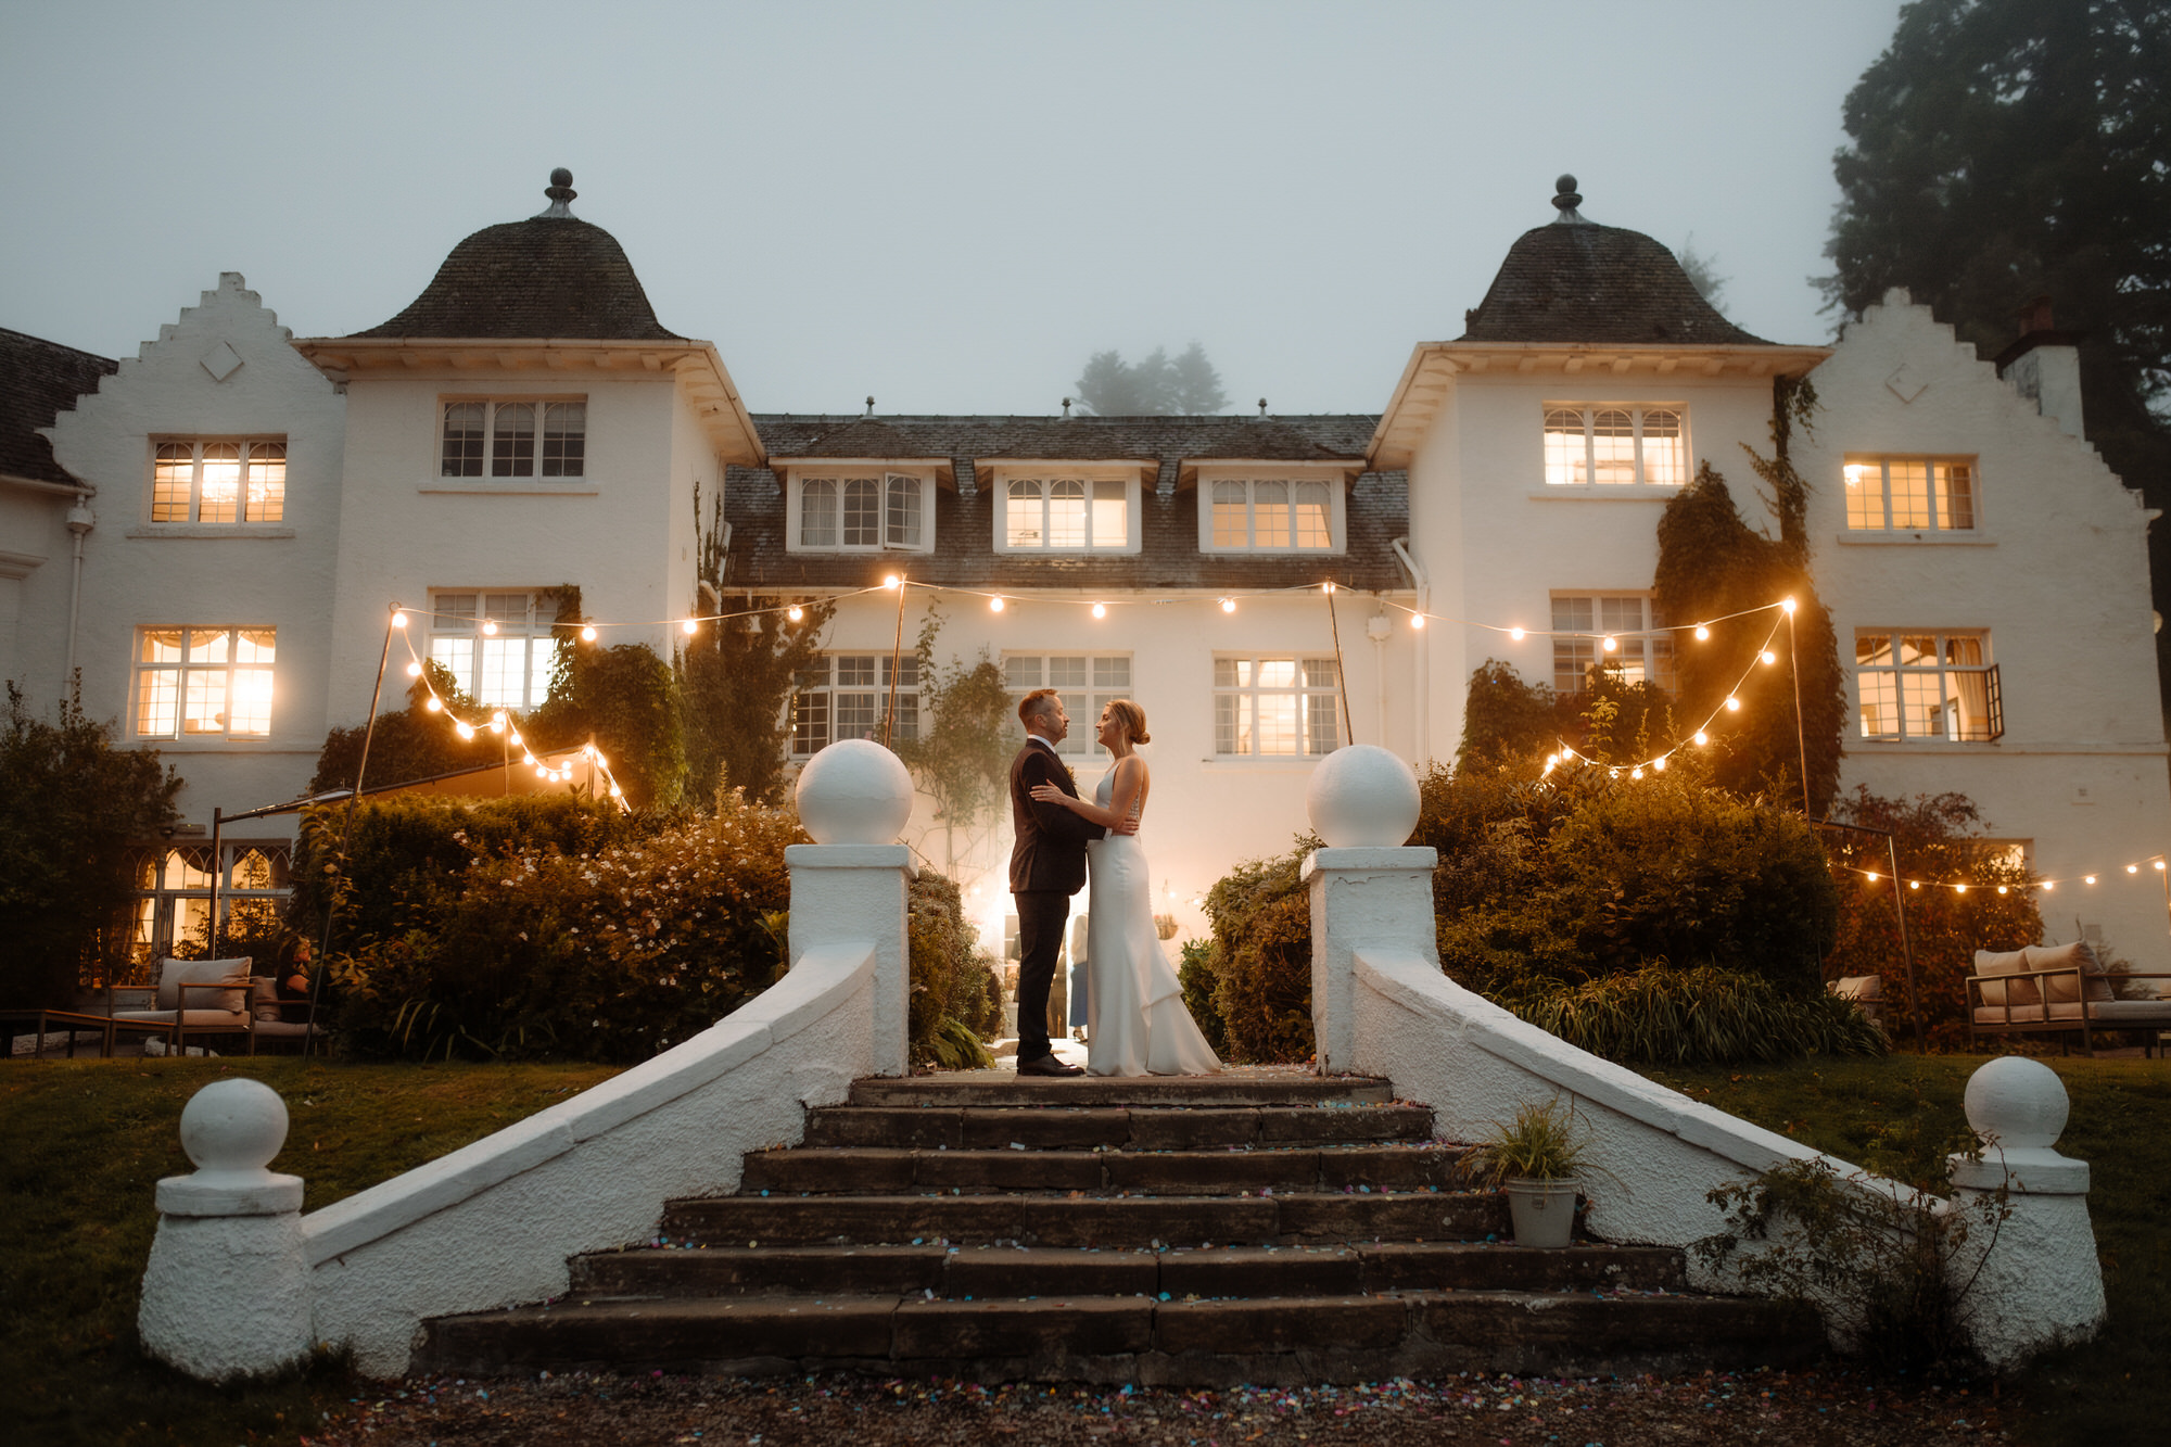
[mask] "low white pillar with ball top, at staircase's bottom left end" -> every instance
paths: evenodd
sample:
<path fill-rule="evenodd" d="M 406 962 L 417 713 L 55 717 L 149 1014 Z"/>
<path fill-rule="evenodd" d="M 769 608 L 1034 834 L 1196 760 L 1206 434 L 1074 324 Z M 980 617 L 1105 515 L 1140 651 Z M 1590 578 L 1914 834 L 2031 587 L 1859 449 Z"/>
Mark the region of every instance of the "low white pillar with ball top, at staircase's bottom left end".
<path fill-rule="evenodd" d="M 180 1112 L 193 1175 L 158 1182 L 143 1271 L 143 1347 L 204 1382 L 308 1356 L 302 1178 L 265 1167 L 287 1143 L 287 1102 L 258 1080 L 217 1080 Z"/>

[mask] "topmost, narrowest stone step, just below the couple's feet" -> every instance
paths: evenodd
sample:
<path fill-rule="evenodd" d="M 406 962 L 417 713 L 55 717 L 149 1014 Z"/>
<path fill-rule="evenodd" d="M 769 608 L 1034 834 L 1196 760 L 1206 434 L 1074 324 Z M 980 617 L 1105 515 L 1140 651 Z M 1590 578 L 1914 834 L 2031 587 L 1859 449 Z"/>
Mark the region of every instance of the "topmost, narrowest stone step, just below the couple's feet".
<path fill-rule="evenodd" d="M 853 1080 L 853 1106 L 1192 1106 L 1211 1110 L 1261 1106 L 1385 1106 L 1394 1086 L 1370 1075 L 1307 1075 L 1287 1069 L 1220 1075 L 1014 1075 L 1012 1071 L 947 1071 L 899 1080 Z"/>

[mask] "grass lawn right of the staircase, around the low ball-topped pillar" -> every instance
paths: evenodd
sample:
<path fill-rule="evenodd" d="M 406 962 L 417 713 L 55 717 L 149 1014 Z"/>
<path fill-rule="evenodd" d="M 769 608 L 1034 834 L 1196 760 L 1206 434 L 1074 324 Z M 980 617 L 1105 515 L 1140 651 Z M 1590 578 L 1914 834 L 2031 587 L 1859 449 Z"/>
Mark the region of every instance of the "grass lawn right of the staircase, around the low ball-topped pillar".
<path fill-rule="evenodd" d="M 1652 1080 L 1804 1145 L 1913 1184 L 1971 1138 L 1963 1095 L 1984 1056 L 1813 1058 L 1752 1069 L 1654 1069 Z M 2171 1065 L 2045 1058 L 2073 1115 L 2058 1141 L 2089 1162 L 2089 1217 L 2110 1319 L 2084 1345 L 2052 1351 L 2004 1384 L 2041 1447 L 2158 1440 L 2171 1421 Z"/>

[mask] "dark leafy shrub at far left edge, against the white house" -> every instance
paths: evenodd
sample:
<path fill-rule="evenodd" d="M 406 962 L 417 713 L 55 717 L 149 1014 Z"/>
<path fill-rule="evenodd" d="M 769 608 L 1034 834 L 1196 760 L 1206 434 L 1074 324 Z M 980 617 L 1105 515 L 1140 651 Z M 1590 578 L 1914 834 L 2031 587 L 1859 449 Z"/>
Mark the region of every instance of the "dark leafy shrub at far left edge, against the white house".
<path fill-rule="evenodd" d="M 113 726 L 82 713 L 30 715 L 7 687 L 0 732 L 0 1006 L 67 1006 L 82 965 L 119 962 L 132 880 L 128 847 L 174 826 L 180 776 L 156 750 L 113 747 Z"/>

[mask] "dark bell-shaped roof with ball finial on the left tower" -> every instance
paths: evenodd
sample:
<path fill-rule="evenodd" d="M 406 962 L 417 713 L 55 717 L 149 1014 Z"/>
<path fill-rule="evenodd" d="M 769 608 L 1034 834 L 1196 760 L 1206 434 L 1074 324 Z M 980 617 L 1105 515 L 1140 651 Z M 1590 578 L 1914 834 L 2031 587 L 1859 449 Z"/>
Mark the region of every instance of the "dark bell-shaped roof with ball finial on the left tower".
<path fill-rule="evenodd" d="M 569 209 L 573 174 L 551 172 L 543 193 L 547 211 L 467 237 L 406 311 L 354 337 L 684 341 L 656 319 L 617 237 Z"/>

